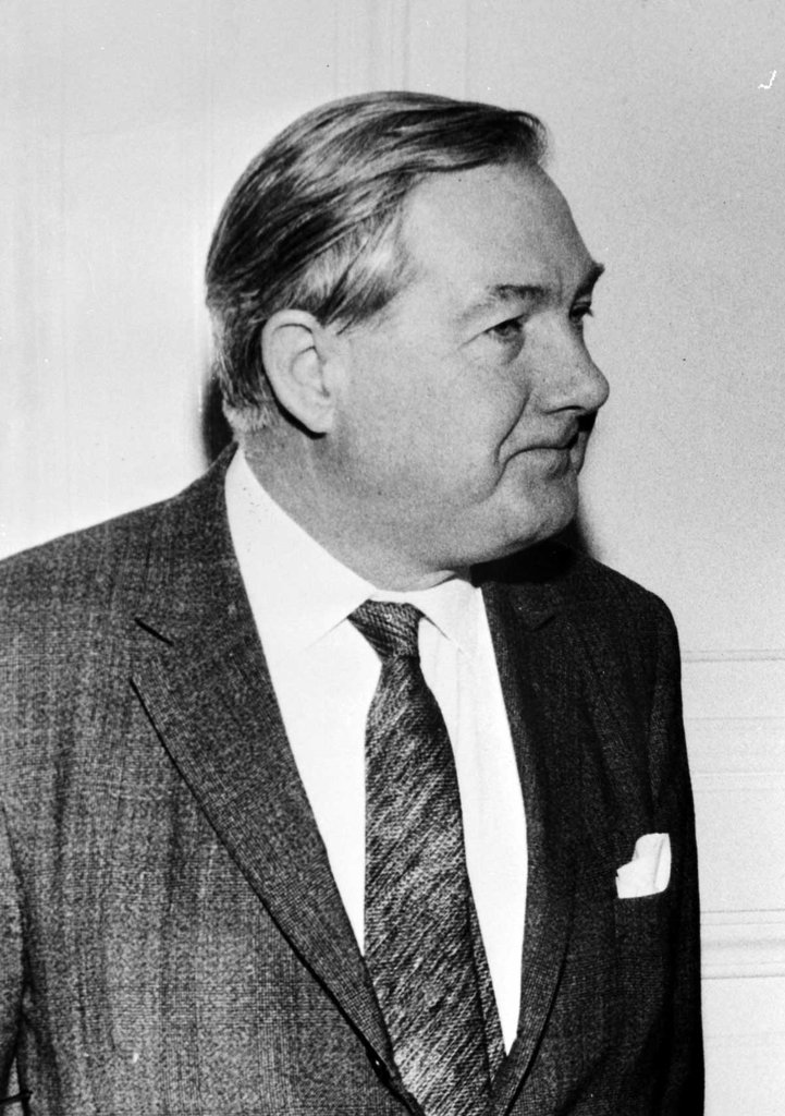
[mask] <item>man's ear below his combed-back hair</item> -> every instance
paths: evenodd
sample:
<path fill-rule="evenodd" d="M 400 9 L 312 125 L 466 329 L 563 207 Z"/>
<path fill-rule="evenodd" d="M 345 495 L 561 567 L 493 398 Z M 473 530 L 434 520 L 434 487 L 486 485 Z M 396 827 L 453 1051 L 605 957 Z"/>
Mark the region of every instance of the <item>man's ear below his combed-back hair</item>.
<path fill-rule="evenodd" d="M 312 434 L 332 425 L 336 331 L 306 310 L 279 310 L 262 329 L 262 360 L 275 398 Z"/>

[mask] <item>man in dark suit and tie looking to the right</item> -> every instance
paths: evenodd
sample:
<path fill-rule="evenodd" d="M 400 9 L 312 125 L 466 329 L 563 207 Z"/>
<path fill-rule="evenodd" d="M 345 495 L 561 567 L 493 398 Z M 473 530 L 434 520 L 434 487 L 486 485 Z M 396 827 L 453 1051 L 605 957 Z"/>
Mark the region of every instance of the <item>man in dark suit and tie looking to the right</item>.
<path fill-rule="evenodd" d="M 207 264 L 239 451 L 7 565 L 9 1110 L 702 1110 L 672 623 L 547 541 L 608 387 L 543 154 L 294 123 Z"/>

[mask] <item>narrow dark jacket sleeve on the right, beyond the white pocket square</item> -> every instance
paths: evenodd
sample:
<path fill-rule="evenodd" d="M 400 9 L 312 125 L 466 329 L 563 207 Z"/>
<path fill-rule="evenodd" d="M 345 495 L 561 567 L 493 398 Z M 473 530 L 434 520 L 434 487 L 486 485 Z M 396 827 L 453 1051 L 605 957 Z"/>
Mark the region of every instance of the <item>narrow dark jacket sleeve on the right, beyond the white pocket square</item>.
<path fill-rule="evenodd" d="M 677 933 L 672 943 L 671 1020 L 663 1079 L 662 1116 L 700 1116 L 704 1112 L 704 1057 L 700 1013 L 700 911 L 692 790 L 687 763 L 680 661 L 676 627 L 662 606 L 652 704 L 650 747 L 655 796 L 675 819 L 681 856 Z"/>

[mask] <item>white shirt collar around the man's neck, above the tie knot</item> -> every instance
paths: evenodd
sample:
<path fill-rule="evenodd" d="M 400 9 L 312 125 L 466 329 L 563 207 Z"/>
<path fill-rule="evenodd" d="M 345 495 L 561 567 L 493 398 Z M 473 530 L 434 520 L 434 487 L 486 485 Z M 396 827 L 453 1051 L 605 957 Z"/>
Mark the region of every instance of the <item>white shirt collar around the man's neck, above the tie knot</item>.
<path fill-rule="evenodd" d="M 275 503 L 242 451 L 226 472 L 232 542 L 265 653 L 297 654 L 321 639 L 368 598 L 407 602 L 472 656 L 482 608 L 468 577 L 394 593 L 338 561 Z"/>

